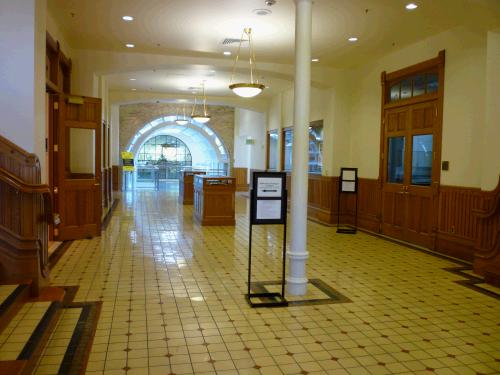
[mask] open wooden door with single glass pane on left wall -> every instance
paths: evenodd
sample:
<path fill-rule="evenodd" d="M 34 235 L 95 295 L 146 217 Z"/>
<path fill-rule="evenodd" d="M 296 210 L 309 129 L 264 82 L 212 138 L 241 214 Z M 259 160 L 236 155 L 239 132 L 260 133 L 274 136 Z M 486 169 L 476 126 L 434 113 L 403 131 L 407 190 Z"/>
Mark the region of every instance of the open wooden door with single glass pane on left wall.
<path fill-rule="evenodd" d="M 101 99 L 54 98 L 55 212 L 57 240 L 101 233 Z"/>

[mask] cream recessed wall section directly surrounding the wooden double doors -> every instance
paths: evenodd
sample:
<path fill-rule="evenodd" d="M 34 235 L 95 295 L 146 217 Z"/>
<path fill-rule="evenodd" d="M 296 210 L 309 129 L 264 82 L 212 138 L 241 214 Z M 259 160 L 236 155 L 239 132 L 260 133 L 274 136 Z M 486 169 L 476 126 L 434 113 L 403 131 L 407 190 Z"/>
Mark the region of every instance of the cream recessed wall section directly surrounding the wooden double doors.
<path fill-rule="evenodd" d="M 362 177 L 377 178 L 380 154 L 382 71 L 395 71 L 446 50 L 442 160 L 450 170 L 441 184 L 480 186 L 480 139 L 484 122 L 485 37 L 455 28 L 402 48 L 351 74 L 352 164 Z M 466 157 L 464 157 L 466 155 Z"/>

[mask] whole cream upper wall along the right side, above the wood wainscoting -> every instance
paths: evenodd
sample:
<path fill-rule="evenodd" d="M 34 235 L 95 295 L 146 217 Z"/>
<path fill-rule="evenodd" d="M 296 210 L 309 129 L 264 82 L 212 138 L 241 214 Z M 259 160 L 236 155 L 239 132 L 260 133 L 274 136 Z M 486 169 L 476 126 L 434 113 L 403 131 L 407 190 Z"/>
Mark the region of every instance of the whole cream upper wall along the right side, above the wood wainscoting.
<path fill-rule="evenodd" d="M 355 69 L 335 72 L 329 90 L 311 92 L 311 120 L 324 120 L 324 175 L 357 167 L 378 178 L 382 71 L 392 72 L 446 51 L 441 184 L 497 185 L 500 173 L 500 32 L 457 27 Z M 268 128 L 293 124 L 293 90 L 271 100 Z"/>

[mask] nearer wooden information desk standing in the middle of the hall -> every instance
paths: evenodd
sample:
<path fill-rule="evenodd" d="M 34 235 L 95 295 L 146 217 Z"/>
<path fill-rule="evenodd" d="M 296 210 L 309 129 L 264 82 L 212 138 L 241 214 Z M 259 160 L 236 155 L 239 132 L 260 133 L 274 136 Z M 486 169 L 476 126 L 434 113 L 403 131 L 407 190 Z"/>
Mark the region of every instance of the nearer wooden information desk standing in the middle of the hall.
<path fill-rule="evenodd" d="M 235 225 L 234 177 L 194 176 L 193 217 L 201 225 Z"/>

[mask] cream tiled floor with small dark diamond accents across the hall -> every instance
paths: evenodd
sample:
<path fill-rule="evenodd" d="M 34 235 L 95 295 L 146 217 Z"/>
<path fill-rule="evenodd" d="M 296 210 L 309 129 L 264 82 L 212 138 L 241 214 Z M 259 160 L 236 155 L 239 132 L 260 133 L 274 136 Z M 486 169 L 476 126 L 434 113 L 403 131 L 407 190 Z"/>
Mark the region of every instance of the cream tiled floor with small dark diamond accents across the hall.
<path fill-rule="evenodd" d="M 453 262 L 309 222 L 308 277 L 351 302 L 251 309 L 246 198 L 236 227 L 193 224 L 175 191 L 120 198 L 52 271 L 103 301 L 88 374 L 500 373 L 500 302 L 454 283 Z M 254 280 L 279 278 L 280 236 L 255 228 Z"/>

